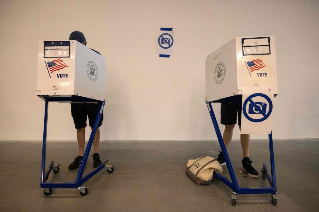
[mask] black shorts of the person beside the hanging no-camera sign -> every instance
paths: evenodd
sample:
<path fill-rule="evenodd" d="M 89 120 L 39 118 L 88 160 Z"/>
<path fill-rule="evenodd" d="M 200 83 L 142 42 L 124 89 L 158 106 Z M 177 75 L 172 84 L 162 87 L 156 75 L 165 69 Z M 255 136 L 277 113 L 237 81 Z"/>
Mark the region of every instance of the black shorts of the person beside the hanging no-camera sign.
<path fill-rule="evenodd" d="M 241 126 L 241 102 L 222 102 L 220 104 L 220 124 L 236 124 L 238 115 L 238 125 Z"/>

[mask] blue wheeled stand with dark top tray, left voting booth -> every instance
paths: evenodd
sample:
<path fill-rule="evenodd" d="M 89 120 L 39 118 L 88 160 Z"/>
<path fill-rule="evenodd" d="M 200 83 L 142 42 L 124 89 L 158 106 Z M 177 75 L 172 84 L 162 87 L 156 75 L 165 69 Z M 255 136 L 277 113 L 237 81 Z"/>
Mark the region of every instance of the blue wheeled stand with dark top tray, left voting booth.
<path fill-rule="evenodd" d="M 107 168 L 108 173 L 113 172 L 113 165 L 109 165 L 109 161 L 104 161 L 100 166 L 95 168 L 93 171 L 88 173 L 86 176 L 83 177 L 83 172 L 85 168 L 85 164 L 87 158 L 89 156 L 89 152 L 93 143 L 93 138 L 95 136 L 95 132 L 97 130 L 97 126 L 100 121 L 100 117 L 105 105 L 104 101 L 89 99 L 86 97 L 80 97 L 76 95 L 70 95 L 70 97 L 60 97 L 59 95 L 38 95 L 41 99 L 45 101 L 45 112 L 44 112 L 44 130 L 43 130 L 43 145 L 42 145 L 42 164 L 41 164 L 41 183 L 40 187 L 43 189 L 43 193 L 45 195 L 50 195 L 52 193 L 52 188 L 77 188 L 80 191 L 81 195 L 86 195 L 88 193 L 88 185 L 83 185 L 87 180 L 89 180 L 93 175 L 101 171 L 104 167 Z M 95 102 L 100 104 L 99 112 L 96 116 L 93 129 L 88 141 L 88 144 L 85 149 L 85 153 L 83 156 L 83 160 L 81 166 L 78 171 L 78 176 L 75 182 L 47 182 L 49 174 L 51 170 L 53 173 L 58 173 L 60 168 L 59 164 L 54 165 L 53 160 L 50 162 L 47 170 L 45 170 L 45 158 L 46 158 L 46 142 L 47 142 L 47 123 L 48 123 L 48 103 L 49 102 Z"/>

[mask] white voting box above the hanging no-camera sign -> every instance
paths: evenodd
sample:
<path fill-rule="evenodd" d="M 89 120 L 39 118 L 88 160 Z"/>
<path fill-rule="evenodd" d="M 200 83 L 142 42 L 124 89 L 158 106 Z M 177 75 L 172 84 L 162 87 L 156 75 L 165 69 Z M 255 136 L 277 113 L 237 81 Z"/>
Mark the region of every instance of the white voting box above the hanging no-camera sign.
<path fill-rule="evenodd" d="M 243 87 L 278 94 L 275 37 L 236 37 L 206 58 L 206 102 L 242 95 Z"/>

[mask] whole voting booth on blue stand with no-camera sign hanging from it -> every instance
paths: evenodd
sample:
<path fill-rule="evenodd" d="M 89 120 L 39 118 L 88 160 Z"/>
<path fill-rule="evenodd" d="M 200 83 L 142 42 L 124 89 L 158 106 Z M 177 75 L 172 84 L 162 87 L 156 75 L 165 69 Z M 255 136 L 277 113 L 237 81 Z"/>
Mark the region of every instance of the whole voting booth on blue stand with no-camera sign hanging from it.
<path fill-rule="evenodd" d="M 275 37 L 236 37 L 209 54 L 206 58 L 206 98 L 211 120 L 231 181 L 220 173 L 219 180 L 233 190 L 232 204 L 237 194 L 271 194 L 272 204 L 277 204 L 277 185 L 272 145 L 273 98 L 278 94 Z M 263 179 L 271 187 L 241 188 L 213 112 L 213 102 L 239 102 L 242 105 L 241 134 L 266 133 L 269 136 L 271 173 L 263 164 Z"/>

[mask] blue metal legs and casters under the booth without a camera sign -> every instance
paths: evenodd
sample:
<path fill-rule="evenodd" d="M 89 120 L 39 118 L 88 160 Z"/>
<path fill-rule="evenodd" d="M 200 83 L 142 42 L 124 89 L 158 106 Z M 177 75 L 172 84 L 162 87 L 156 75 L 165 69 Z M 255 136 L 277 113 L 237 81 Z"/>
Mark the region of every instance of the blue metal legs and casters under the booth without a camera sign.
<path fill-rule="evenodd" d="M 100 170 L 102 170 L 104 167 L 107 168 L 108 173 L 113 172 L 113 165 L 110 165 L 108 160 L 104 161 L 100 166 L 95 168 L 93 171 L 88 173 L 87 175 L 83 176 L 83 172 L 85 169 L 86 161 L 88 159 L 92 144 L 93 144 L 93 139 L 101 118 L 101 114 L 103 111 L 105 102 L 100 102 L 100 109 L 99 112 L 95 118 L 93 129 L 88 141 L 88 144 L 85 149 L 85 153 L 82 159 L 81 166 L 78 171 L 77 178 L 74 183 L 50 183 L 46 182 L 48 180 L 48 176 L 50 171 L 52 170 L 54 173 L 57 173 L 59 169 L 59 164 L 57 166 L 54 166 L 54 162 L 51 161 L 49 164 L 49 167 L 47 171 L 44 173 L 45 170 L 45 158 L 46 158 L 46 141 L 47 141 L 47 123 L 48 123 L 48 101 L 45 102 L 45 112 L 44 112 L 44 131 L 43 131 L 43 145 L 42 145 L 42 164 L 41 164 L 41 183 L 40 187 L 43 189 L 43 193 L 45 195 L 49 195 L 52 193 L 52 188 L 77 188 L 80 191 L 81 195 L 86 195 L 88 192 L 88 185 L 83 185 L 87 180 L 89 180 L 91 177 L 93 177 L 96 173 L 98 173 Z"/>

